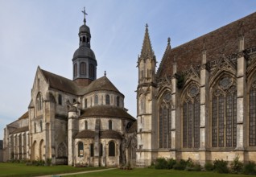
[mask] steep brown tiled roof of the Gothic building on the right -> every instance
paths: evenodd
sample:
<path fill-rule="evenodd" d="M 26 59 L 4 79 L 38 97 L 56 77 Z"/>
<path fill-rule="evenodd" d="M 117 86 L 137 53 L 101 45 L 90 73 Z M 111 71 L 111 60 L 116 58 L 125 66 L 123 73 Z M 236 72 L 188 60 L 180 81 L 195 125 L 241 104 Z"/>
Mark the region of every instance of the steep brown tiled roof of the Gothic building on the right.
<path fill-rule="evenodd" d="M 163 59 L 159 65 L 158 76 L 172 75 L 172 65 L 175 58 L 177 71 L 182 72 L 201 64 L 202 51 L 205 47 L 207 61 L 217 60 L 223 56 L 230 56 L 238 51 L 239 36 L 245 38 L 245 48 L 256 46 L 256 13 L 250 14 L 243 19 L 212 31 L 199 38 L 184 43 L 179 47 L 167 46 Z"/>

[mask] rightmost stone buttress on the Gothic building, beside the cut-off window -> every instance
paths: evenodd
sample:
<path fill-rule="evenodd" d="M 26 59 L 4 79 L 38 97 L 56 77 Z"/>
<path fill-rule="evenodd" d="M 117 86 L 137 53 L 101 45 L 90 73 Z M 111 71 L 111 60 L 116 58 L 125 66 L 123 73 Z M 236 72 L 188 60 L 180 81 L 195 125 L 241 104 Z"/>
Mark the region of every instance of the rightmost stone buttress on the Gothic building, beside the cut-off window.
<path fill-rule="evenodd" d="M 237 147 L 244 150 L 244 121 L 246 117 L 246 57 L 244 53 L 244 37 L 239 39 L 237 56 Z M 242 157 L 241 157 L 242 158 Z"/>

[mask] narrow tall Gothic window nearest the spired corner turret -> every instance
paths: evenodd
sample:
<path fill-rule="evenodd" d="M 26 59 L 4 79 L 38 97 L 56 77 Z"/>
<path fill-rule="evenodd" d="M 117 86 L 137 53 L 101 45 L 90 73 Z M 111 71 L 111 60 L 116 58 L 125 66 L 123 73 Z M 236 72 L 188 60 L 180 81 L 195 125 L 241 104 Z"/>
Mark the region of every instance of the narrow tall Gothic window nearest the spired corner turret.
<path fill-rule="evenodd" d="M 159 108 L 159 148 L 171 148 L 171 93 L 165 93 Z"/>

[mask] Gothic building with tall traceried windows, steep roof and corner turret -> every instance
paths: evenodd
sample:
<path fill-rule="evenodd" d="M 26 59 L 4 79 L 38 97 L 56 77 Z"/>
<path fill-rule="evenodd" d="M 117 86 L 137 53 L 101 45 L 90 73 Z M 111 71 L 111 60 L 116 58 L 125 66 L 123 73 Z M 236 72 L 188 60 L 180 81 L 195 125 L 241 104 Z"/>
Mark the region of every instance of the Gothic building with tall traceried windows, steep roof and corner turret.
<path fill-rule="evenodd" d="M 148 27 L 138 56 L 138 166 L 156 158 L 256 161 L 256 13 L 171 48 L 156 71 Z"/>

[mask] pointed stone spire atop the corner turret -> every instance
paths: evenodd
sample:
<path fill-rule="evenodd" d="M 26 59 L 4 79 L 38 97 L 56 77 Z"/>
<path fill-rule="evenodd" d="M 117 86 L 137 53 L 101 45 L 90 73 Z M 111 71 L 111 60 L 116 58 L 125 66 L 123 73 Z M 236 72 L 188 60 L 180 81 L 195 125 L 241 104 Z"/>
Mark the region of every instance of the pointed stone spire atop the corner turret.
<path fill-rule="evenodd" d="M 146 59 L 147 57 L 154 58 L 154 56 L 155 56 L 154 51 L 151 46 L 151 39 L 148 34 L 148 25 L 146 24 L 146 31 L 145 31 L 145 35 L 144 35 L 144 40 L 143 40 L 143 44 L 142 44 L 142 52 L 141 52 L 140 57 Z"/>

